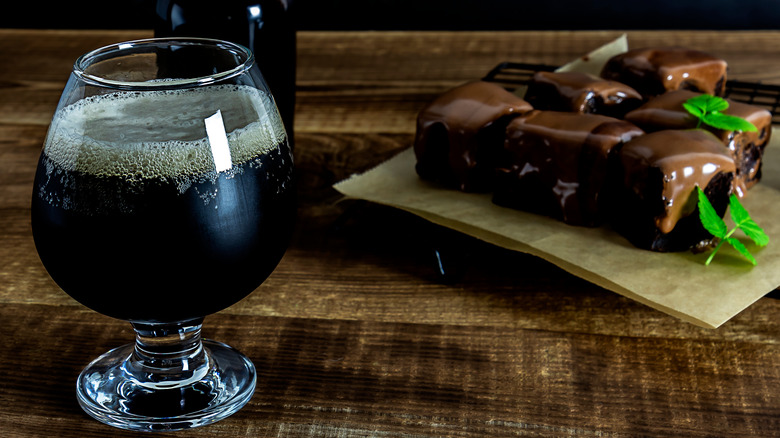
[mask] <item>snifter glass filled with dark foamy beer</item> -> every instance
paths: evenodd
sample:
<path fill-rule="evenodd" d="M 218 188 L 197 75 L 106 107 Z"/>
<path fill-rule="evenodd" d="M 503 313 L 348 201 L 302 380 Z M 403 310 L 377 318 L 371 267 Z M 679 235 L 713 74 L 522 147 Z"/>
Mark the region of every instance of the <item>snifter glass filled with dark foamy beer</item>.
<path fill-rule="evenodd" d="M 287 134 L 249 50 L 158 38 L 80 57 L 39 161 L 33 236 L 65 292 L 136 333 L 83 370 L 82 408 L 154 431 L 244 406 L 254 365 L 201 324 L 270 275 L 294 216 Z"/>

